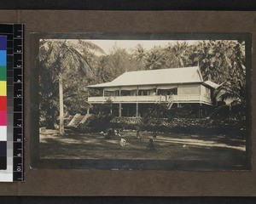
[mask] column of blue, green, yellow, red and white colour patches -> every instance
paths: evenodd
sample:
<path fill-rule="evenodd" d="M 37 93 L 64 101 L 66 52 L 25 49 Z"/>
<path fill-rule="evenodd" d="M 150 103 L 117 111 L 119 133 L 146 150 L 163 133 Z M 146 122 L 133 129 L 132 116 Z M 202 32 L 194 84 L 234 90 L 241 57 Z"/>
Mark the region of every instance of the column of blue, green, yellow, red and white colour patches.
<path fill-rule="evenodd" d="M 0 36 L 0 169 L 7 168 L 7 36 Z"/>

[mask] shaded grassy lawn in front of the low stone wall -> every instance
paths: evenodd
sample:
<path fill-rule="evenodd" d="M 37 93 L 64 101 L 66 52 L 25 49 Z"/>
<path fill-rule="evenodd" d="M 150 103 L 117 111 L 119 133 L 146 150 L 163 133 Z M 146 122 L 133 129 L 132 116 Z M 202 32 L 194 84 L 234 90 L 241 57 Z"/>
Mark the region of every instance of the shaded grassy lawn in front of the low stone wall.
<path fill-rule="evenodd" d="M 55 130 L 40 134 L 41 159 L 128 159 L 172 161 L 222 161 L 233 167 L 245 162 L 245 140 L 224 135 L 200 136 L 158 133 L 155 150 L 147 150 L 153 133 L 125 130 L 121 136 L 105 139 L 102 133 L 74 133 L 60 136 Z M 125 139 L 125 146 L 119 144 Z"/>

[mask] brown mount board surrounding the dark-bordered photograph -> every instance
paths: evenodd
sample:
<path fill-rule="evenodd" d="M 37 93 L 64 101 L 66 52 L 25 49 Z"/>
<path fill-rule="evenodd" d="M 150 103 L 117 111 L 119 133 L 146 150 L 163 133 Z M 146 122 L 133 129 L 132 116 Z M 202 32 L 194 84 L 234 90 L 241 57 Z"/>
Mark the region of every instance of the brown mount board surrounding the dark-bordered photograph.
<path fill-rule="evenodd" d="M 253 170 L 245 172 L 110 171 L 32 169 L 30 167 L 31 32 L 250 32 L 253 47 L 255 12 L 217 11 L 0 11 L 0 23 L 25 24 L 25 182 L 0 184 L 0 195 L 255 196 Z M 253 65 L 256 57 L 253 55 Z M 255 73 L 253 71 L 253 82 Z M 255 89 L 252 85 L 252 100 Z M 252 103 L 252 107 L 253 107 Z M 253 109 L 253 131 L 255 121 Z"/>

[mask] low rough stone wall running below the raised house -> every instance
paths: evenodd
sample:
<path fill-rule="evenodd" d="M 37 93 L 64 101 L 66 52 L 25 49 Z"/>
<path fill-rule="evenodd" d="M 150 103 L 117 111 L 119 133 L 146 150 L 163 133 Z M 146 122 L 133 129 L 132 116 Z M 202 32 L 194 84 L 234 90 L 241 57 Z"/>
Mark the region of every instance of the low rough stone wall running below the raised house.
<path fill-rule="evenodd" d="M 227 136 L 244 137 L 246 133 L 245 120 L 220 120 L 207 118 L 148 118 L 148 122 L 143 123 L 142 118 L 115 118 L 111 121 L 115 128 L 124 127 L 126 129 L 144 131 L 181 133 L 181 134 L 224 134 Z"/>

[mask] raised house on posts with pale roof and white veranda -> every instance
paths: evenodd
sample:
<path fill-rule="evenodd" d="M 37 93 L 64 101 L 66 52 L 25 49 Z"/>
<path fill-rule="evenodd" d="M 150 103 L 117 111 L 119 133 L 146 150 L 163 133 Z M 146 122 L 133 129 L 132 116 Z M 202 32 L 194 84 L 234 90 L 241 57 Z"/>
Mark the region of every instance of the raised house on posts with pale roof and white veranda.
<path fill-rule="evenodd" d="M 127 71 L 112 82 L 90 85 L 101 96 L 90 96 L 90 105 L 111 102 L 116 116 L 143 116 L 148 105 L 163 103 L 168 109 L 191 104 L 199 116 L 214 105 L 218 84 L 204 81 L 198 66 L 150 71 Z M 95 92 L 94 92 L 95 93 Z"/>

